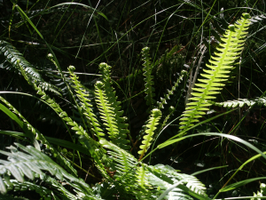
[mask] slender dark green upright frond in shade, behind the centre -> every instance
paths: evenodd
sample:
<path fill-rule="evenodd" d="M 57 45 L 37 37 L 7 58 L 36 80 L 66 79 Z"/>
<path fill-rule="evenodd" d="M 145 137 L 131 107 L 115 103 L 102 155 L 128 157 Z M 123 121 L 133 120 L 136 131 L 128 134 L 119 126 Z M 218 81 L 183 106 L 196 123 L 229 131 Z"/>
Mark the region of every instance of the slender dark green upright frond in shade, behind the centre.
<path fill-rule="evenodd" d="M 151 64 L 150 55 L 149 55 L 150 48 L 145 47 L 142 49 L 142 60 L 145 61 L 143 63 L 143 70 L 145 73 L 143 74 L 145 77 L 145 93 L 147 94 L 145 96 L 146 104 L 147 106 L 150 106 L 150 108 L 153 108 L 153 104 L 155 103 L 155 100 L 153 100 L 154 94 L 154 88 L 153 88 L 153 76 L 152 76 L 152 69 L 153 65 Z"/>

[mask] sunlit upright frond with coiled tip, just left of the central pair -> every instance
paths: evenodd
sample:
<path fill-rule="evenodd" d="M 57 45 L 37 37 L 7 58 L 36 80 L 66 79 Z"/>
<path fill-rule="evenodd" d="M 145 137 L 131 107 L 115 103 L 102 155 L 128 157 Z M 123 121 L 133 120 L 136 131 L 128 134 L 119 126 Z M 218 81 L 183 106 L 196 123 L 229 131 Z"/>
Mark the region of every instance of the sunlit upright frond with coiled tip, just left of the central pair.
<path fill-rule="evenodd" d="M 90 131 L 93 132 L 94 134 L 97 135 L 98 140 L 100 140 L 101 136 L 105 136 L 105 133 L 103 130 L 100 128 L 100 125 L 98 124 L 98 119 L 97 116 L 93 113 L 92 105 L 89 100 L 89 94 L 86 92 L 84 89 L 85 87 L 81 84 L 81 82 L 78 81 L 78 77 L 74 75 L 74 66 L 68 67 L 68 71 L 70 73 L 70 77 L 74 83 L 72 86 L 77 93 L 77 97 L 81 100 L 82 102 L 82 108 L 84 109 L 84 115 L 88 118 L 90 121 L 89 126 L 90 126 Z"/>

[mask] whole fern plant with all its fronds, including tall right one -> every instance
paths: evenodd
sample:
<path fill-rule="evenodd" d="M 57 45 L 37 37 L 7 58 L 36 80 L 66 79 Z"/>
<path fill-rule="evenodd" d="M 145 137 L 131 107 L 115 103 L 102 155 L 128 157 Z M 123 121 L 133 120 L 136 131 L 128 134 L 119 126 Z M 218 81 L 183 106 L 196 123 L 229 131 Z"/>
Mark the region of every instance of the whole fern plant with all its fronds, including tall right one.
<path fill-rule="evenodd" d="M 230 26 L 225 33 L 222 38 L 224 42 L 221 44 L 222 48 L 218 48 L 219 52 L 215 52 L 217 57 L 212 57 L 211 64 L 207 65 L 210 70 L 204 69 L 207 74 L 202 76 L 207 79 L 200 79 L 201 84 L 196 84 L 198 88 L 193 89 L 197 92 L 192 93 L 194 97 L 191 100 L 193 102 L 189 103 L 189 107 L 184 111 L 180 129 L 185 131 L 199 122 L 198 118 L 205 114 L 203 111 L 208 110 L 207 107 L 212 105 L 209 100 L 215 99 L 213 95 L 222 89 L 221 82 L 228 78 L 225 74 L 230 73 L 229 69 L 232 68 L 233 61 L 239 58 L 243 49 L 245 31 L 249 25 L 248 19 L 249 15 L 244 13 L 243 18 L 236 24 L 236 28 Z M 102 181 L 95 187 L 90 187 L 84 180 L 79 179 L 74 167 L 60 154 L 61 152 L 57 151 L 55 146 L 49 143 L 46 136 L 37 131 L 16 108 L 1 97 L 0 100 L 7 107 L 0 104 L 1 110 L 20 125 L 26 133 L 25 136 L 31 140 L 35 148 L 15 143 L 17 148 L 11 146 L 9 148 L 11 152 L 0 151 L 2 155 L 8 156 L 8 161 L 0 160 L 0 192 L 6 194 L 8 190 L 16 188 L 17 185 L 20 185 L 20 190 L 27 188 L 37 190 L 38 187 L 32 186 L 32 184 L 36 185 L 34 181 L 37 180 L 45 182 L 40 186 L 43 192 L 39 192 L 39 190 L 36 192 L 46 199 L 106 199 L 107 197 L 110 199 L 159 200 L 208 199 L 205 186 L 194 176 L 176 172 L 168 165 L 153 166 L 145 163 L 145 155 L 151 147 L 154 135 L 166 124 L 166 121 L 160 123 L 163 105 L 166 104 L 166 99 L 170 99 L 170 96 L 173 95 L 186 73 L 182 72 L 177 78 L 176 84 L 164 95 L 165 98 L 160 100 L 156 108 L 155 100 L 153 100 L 153 65 L 150 62 L 148 48 L 143 50 L 143 58 L 146 82 L 145 100 L 151 112 L 147 124 L 145 124 L 142 144 L 138 147 L 138 159 L 134 153 L 129 151 L 128 137 L 131 132 L 122 116 L 121 103 L 117 101 L 111 85 L 110 66 L 106 63 L 99 65 L 103 76 L 102 81 L 98 81 L 94 85 L 92 94 L 94 98 L 89 98 L 91 91 L 78 81 L 78 76 L 74 74 L 74 67 L 68 68 L 76 96 L 70 87 L 67 88 L 71 93 L 70 97 L 74 100 L 74 107 L 78 109 L 82 117 L 84 116 L 84 120 L 81 120 L 79 124 L 36 81 L 31 80 L 30 75 L 25 72 L 25 68 L 20 65 L 21 59 L 13 60 L 28 84 L 32 85 L 37 94 L 41 96 L 41 100 L 64 121 L 70 136 L 78 138 L 79 143 L 73 144 L 73 147 L 80 149 L 85 156 L 90 156 L 91 167 L 95 165 L 98 168 Z M 61 76 L 64 76 L 61 70 L 59 72 Z M 96 115 L 96 109 L 98 109 L 99 117 Z M 168 117 L 166 118 L 168 120 Z M 108 137 L 106 137 L 106 133 Z M 61 142 L 64 143 L 64 141 Z M 82 151 L 82 149 L 87 151 Z M 44 150 L 58 158 L 61 161 L 60 165 L 43 153 Z"/>

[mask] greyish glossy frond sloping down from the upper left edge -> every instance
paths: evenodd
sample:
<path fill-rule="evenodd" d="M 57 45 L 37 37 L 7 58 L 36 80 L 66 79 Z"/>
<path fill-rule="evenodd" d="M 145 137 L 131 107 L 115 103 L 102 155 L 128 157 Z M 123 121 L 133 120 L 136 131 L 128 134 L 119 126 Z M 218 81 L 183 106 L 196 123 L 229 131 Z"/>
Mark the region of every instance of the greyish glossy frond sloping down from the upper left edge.
<path fill-rule="evenodd" d="M 58 88 L 52 84 L 43 81 L 42 76 L 23 57 L 23 55 L 12 46 L 12 44 L 9 44 L 4 40 L 0 40 L 0 54 L 4 56 L 4 63 L 1 63 L 0 68 L 13 68 L 21 72 L 21 69 L 18 67 L 18 60 L 20 60 L 20 66 L 21 68 L 23 68 L 24 73 L 28 76 L 29 82 L 31 82 L 32 84 L 35 83 L 39 86 L 43 86 L 43 90 L 45 91 L 54 92 L 60 95 Z"/>

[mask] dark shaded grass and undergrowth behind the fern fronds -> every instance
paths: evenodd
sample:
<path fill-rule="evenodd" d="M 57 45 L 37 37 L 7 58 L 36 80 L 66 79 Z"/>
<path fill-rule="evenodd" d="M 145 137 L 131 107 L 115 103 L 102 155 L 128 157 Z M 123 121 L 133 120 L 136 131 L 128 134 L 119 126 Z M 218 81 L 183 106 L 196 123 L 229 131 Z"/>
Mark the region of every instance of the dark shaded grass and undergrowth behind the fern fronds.
<path fill-rule="evenodd" d="M 168 116 L 171 107 L 175 111 L 168 123 L 180 116 L 185 109 L 188 92 L 191 92 L 193 78 L 202 73 L 210 55 L 221 42 L 219 37 L 229 24 L 233 24 L 243 12 L 252 16 L 253 24 L 249 28 L 244 51 L 241 53 L 241 65 L 236 65 L 231 77 L 217 95 L 216 102 L 227 100 L 262 98 L 266 92 L 265 66 L 266 45 L 265 1 L 264 0 L 179 0 L 179 1 L 0 1 L 1 46 L 3 41 L 15 47 L 30 63 L 26 72 L 41 83 L 43 89 L 51 95 L 59 106 L 74 121 L 82 123 L 80 113 L 74 109 L 71 92 L 66 82 L 71 84 L 67 67 L 75 67 L 75 74 L 89 91 L 94 84 L 102 80 L 99 64 L 106 62 L 112 66 L 112 82 L 121 109 L 128 117 L 130 152 L 137 155 L 137 147 L 142 137 L 142 126 L 148 119 L 149 107 L 145 104 L 145 80 L 141 51 L 150 48 L 153 63 L 154 100 L 160 101 L 164 93 L 175 84 L 182 70 L 187 71 L 183 82 L 178 85 L 175 94 L 162 109 L 161 116 Z M 14 7 L 18 4 L 33 22 L 33 28 L 26 17 Z M 55 6 L 58 5 L 58 6 Z M 86 5 L 86 6 L 83 6 Z M 92 8 L 95 8 L 92 9 Z M 44 40 L 43 40 L 44 39 Z M 44 42 L 46 41 L 46 42 Z M 55 52 L 66 81 L 59 74 L 58 68 L 47 58 L 51 50 Z M 168 53 L 170 52 L 170 53 Z M 38 98 L 33 98 L 35 90 L 21 75 L 19 68 L 14 68 L 4 51 L 0 55 L 0 91 L 14 108 L 25 116 L 44 136 L 61 140 L 74 141 L 77 137 L 66 132 L 66 126 L 50 107 Z M 57 94 L 58 91 L 61 96 Z M 23 92 L 31 96 L 22 95 Z M 224 114 L 231 108 L 212 106 L 200 121 Z M 98 115 L 96 113 L 96 115 Z M 0 130 L 21 132 L 20 127 L 11 118 L 0 112 Z M 266 148 L 265 130 L 266 112 L 263 103 L 245 105 L 227 115 L 223 115 L 200 124 L 188 134 L 202 132 L 221 132 L 249 141 L 264 151 Z M 169 124 L 154 143 L 155 146 L 176 135 L 179 131 L 178 119 Z M 0 148 L 20 141 L 29 143 L 22 137 L 0 134 Z M 89 185 L 100 182 L 102 175 L 87 156 L 81 156 L 71 148 L 57 147 L 63 156 L 73 161 L 74 167 L 82 180 Z M 45 150 L 44 150 L 45 152 Z M 45 152 L 50 155 L 51 152 Z M 168 164 L 186 174 L 193 174 L 204 169 L 224 166 L 223 168 L 195 175 L 207 188 L 207 195 L 214 197 L 220 188 L 230 179 L 241 164 L 254 156 L 255 152 L 246 146 L 221 137 L 192 137 L 162 148 L 146 159 L 149 164 Z M 3 156 L 4 157 L 4 156 Z M 239 182 L 250 178 L 263 177 L 265 161 L 260 158 L 246 164 L 231 180 Z M 93 174 L 90 176 L 88 174 Z M 89 178 L 90 176 L 90 178 Z M 88 177 L 88 179 L 87 179 Z M 225 196 L 253 196 L 263 180 L 256 180 L 240 188 L 221 194 Z M 25 196 L 23 192 L 14 192 L 15 196 Z M 37 199 L 38 197 L 29 199 Z"/>

